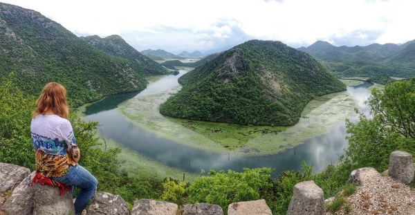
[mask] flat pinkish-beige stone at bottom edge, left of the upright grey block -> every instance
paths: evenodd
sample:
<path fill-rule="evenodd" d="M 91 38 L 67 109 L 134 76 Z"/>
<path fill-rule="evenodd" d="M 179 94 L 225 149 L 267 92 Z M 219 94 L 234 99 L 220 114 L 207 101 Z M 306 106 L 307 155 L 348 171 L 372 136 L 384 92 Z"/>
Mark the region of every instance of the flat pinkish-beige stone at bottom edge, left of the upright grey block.
<path fill-rule="evenodd" d="M 273 214 L 264 199 L 246 202 L 231 203 L 228 206 L 228 215 L 259 215 Z"/>

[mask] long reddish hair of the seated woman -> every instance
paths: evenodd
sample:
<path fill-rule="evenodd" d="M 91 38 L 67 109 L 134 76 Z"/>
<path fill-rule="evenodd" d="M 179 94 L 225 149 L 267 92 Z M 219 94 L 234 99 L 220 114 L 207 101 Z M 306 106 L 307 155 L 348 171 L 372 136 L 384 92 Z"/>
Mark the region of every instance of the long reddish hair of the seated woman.
<path fill-rule="evenodd" d="M 62 84 L 56 82 L 46 84 L 36 100 L 36 106 L 32 118 L 39 114 L 44 114 L 46 111 L 52 111 L 61 118 L 68 119 L 69 111 L 66 102 L 66 89 Z"/>

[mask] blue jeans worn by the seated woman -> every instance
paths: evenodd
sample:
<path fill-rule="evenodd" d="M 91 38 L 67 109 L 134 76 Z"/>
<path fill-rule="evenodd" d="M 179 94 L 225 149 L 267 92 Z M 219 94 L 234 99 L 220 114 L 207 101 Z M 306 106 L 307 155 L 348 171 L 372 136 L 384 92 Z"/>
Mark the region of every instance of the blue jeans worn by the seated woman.
<path fill-rule="evenodd" d="M 73 203 L 75 214 L 82 213 L 82 210 L 89 203 L 89 200 L 91 200 L 98 185 L 98 180 L 80 165 L 71 165 L 69 166 L 68 174 L 52 179 L 64 185 L 72 186 L 72 191 L 73 187 L 80 187 L 81 191 L 76 196 L 75 203 Z"/>

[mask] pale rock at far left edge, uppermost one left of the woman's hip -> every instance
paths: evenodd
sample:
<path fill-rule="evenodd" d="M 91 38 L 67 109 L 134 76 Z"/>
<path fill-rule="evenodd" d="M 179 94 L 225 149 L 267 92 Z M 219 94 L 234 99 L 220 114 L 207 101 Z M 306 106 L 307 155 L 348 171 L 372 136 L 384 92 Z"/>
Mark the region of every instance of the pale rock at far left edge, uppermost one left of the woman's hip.
<path fill-rule="evenodd" d="M 0 162 L 0 193 L 14 189 L 30 174 L 30 169 Z"/>

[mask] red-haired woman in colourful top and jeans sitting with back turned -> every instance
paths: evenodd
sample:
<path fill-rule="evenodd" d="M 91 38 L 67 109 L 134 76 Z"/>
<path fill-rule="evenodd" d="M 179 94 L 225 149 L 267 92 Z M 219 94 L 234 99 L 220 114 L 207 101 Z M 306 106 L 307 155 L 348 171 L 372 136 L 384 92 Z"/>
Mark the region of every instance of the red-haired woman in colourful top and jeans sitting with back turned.
<path fill-rule="evenodd" d="M 30 133 L 35 147 L 37 174 L 63 185 L 80 187 L 75 203 L 75 214 L 81 214 L 92 198 L 98 180 L 77 164 L 77 147 L 71 122 L 68 121 L 66 89 L 61 84 L 46 84 L 36 101 Z"/>

